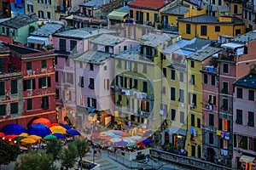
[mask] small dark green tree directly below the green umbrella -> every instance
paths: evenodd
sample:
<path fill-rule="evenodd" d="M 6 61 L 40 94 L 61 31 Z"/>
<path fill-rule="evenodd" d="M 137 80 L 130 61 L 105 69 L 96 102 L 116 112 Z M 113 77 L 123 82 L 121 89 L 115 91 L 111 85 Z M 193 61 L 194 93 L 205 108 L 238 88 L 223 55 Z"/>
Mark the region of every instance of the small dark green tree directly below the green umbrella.
<path fill-rule="evenodd" d="M 49 140 L 46 147 L 46 153 L 53 156 L 54 161 L 59 159 L 63 144 L 59 139 Z"/>

